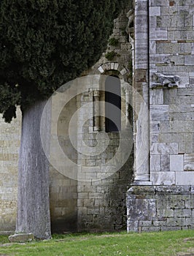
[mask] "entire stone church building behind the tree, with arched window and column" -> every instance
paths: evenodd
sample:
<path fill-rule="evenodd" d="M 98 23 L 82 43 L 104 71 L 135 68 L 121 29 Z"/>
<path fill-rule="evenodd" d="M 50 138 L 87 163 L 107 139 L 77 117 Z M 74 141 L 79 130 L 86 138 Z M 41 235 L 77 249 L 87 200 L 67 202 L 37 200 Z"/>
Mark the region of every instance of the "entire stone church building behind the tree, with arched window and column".
<path fill-rule="evenodd" d="M 52 231 L 192 229 L 193 0 L 129 1 L 114 22 L 101 59 L 52 99 Z M 20 123 L 19 109 L 0 120 L 0 233 L 15 231 Z"/>

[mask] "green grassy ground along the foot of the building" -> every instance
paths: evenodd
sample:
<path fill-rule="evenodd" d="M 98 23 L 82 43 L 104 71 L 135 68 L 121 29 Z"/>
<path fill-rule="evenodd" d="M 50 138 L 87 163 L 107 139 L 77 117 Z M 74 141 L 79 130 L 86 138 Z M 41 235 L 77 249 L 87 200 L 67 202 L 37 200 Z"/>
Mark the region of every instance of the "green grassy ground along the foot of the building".
<path fill-rule="evenodd" d="M 0 236 L 0 255 L 194 255 L 194 230 L 53 235 L 50 241 L 26 244 L 10 244 L 7 236 Z"/>

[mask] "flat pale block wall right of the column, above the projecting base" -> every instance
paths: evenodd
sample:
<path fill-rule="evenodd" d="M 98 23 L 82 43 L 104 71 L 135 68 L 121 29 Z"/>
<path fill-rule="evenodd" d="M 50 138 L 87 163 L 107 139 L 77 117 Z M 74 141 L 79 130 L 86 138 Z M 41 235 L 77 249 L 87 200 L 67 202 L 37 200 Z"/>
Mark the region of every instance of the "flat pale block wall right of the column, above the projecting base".
<path fill-rule="evenodd" d="M 155 185 L 194 184 L 193 10 L 190 0 L 150 1 L 150 171 Z M 161 86 L 158 74 L 179 81 Z"/>

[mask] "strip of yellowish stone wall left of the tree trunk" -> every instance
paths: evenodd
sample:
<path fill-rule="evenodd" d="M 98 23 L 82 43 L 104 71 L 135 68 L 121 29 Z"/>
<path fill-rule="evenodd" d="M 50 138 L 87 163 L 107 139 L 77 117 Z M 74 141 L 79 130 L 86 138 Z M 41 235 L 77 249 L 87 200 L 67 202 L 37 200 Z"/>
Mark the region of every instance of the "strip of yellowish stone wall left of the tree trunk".
<path fill-rule="evenodd" d="M 0 118 L 0 233 L 15 230 L 21 121 L 19 109 L 17 116 L 11 124 L 6 124 Z"/>

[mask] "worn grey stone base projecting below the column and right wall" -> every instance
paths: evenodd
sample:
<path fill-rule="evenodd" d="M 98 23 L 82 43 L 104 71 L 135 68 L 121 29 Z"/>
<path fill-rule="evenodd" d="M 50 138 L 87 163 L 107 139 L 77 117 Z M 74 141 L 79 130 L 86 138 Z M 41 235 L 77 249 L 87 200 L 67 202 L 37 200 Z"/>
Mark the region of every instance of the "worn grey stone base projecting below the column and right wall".
<path fill-rule="evenodd" d="M 133 186 L 126 203 L 128 232 L 194 229 L 194 186 Z"/>

